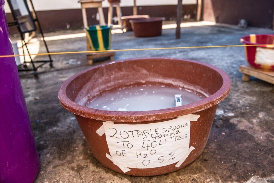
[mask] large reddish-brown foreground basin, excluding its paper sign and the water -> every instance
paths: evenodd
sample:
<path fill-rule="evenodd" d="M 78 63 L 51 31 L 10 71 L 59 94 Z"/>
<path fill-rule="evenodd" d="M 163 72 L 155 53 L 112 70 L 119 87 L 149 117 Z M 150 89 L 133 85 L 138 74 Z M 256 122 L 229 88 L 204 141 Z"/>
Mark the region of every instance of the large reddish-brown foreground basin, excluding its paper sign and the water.
<path fill-rule="evenodd" d="M 188 86 L 208 94 L 208 97 L 183 106 L 138 112 L 106 111 L 84 106 L 102 91 L 138 82 Z M 125 173 L 152 176 L 179 170 L 202 153 L 218 103 L 227 96 L 230 86 L 231 81 L 225 72 L 206 63 L 170 58 L 140 58 L 107 63 L 82 71 L 63 83 L 58 98 L 65 109 L 74 113 L 97 160 L 120 173 L 123 173 L 120 168 L 106 157 L 106 153 L 110 152 L 105 134 L 99 136 L 96 133 L 102 122 L 147 124 L 167 121 L 186 114 L 199 114 L 200 118 L 197 122 L 191 122 L 190 126 L 190 146 L 194 146 L 195 149 L 179 168 L 170 164 L 158 168 L 130 168 L 131 170 Z"/>

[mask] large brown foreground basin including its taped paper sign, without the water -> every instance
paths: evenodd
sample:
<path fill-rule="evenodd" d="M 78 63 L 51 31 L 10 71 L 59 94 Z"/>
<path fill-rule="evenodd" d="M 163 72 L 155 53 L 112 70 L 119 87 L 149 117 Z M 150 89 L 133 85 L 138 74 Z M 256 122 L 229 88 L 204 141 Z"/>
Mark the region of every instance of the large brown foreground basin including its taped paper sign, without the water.
<path fill-rule="evenodd" d="M 142 85 L 152 82 L 188 87 L 208 97 L 182 106 L 146 111 L 111 111 L 86 106 L 88 101 L 104 91 L 140 82 Z M 63 83 L 58 98 L 65 109 L 74 113 L 99 162 L 123 174 L 152 176 L 179 170 L 202 153 L 217 106 L 227 96 L 230 86 L 231 81 L 226 73 L 206 63 L 174 58 L 138 58 L 106 63 L 82 71 Z M 190 119 L 189 116 L 198 118 Z M 180 128 L 186 122 L 188 126 L 183 126 L 188 127 L 186 131 L 176 132 L 186 135 L 184 141 L 173 142 L 171 138 L 175 138 L 175 135 L 172 137 L 168 134 L 156 140 L 153 140 L 155 137 L 152 134 L 147 137 L 130 136 L 130 139 L 110 134 L 116 129 L 117 134 L 135 133 L 140 128 L 153 132 L 153 129 L 163 130 L 163 125 L 171 128 L 170 125 L 174 123 Z M 119 130 L 119 126 L 123 129 Z M 150 141 L 149 147 L 143 146 L 144 138 Z M 122 147 L 121 140 L 132 146 Z M 148 144 L 148 141 L 145 143 Z M 164 141 L 165 144 L 162 143 Z M 155 146 L 156 143 L 158 146 Z M 140 153 L 142 156 L 138 155 Z"/>

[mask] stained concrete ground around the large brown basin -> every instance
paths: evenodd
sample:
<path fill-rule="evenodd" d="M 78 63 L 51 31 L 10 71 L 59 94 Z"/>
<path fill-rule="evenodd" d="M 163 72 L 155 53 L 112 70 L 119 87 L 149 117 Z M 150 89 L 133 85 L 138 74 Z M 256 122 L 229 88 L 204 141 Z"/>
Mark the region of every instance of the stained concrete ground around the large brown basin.
<path fill-rule="evenodd" d="M 78 33 L 82 30 L 47 33 L 46 37 Z M 126 32 L 112 35 L 112 49 L 239 45 L 240 37 L 253 33 L 274 31 L 229 25 L 184 27 L 181 39 L 175 39 L 175 29 L 164 29 L 162 36 L 150 38 L 136 38 L 133 32 Z M 52 52 L 86 49 L 85 37 L 55 38 L 48 41 Z M 42 46 L 40 42 L 40 53 L 45 52 Z M 41 160 L 36 183 L 274 182 L 274 86 L 255 78 L 241 81 L 238 68 L 246 64 L 243 47 L 116 52 L 115 60 L 173 57 L 206 62 L 224 70 L 232 80 L 228 97 L 219 104 L 203 153 L 181 170 L 152 177 L 116 173 L 94 158 L 73 114 L 57 100 L 60 85 L 91 66 L 86 65 L 85 54 L 52 57 L 55 68 L 43 67 L 39 79 L 20 73 Z M 94 65 L 100 63 L 104 62 Z"/>

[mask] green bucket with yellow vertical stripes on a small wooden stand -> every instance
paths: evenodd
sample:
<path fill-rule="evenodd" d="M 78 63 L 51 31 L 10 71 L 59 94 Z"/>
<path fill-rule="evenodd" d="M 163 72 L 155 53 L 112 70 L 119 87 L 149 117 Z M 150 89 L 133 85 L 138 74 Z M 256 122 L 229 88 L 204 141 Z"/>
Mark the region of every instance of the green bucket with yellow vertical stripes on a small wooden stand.
<path fill-rule="evenodd" d="M 110 49 L 111 28 L 108 25 L 92 25 L 84 29 L 92 51 Z"/>

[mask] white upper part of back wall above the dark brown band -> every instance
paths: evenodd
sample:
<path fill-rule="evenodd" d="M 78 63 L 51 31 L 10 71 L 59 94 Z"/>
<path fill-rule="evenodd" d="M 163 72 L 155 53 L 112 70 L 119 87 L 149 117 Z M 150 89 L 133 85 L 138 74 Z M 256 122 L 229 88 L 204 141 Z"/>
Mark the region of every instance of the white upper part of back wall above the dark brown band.
<path fill-rule="evenodd" d="M 79 9 L 78 0 L 32 0 L 36 11 L 59 10 L 59 9 Z M 183 4 L 196 4 L 197 0 L 183 0 Z M 176 5 L 178 0 L 136 0 L 138 6 L 151 5 Z M 121 6 L 132 6 L 133 0 L 121 0 Z M 9 5 L 6 4 L 6 13 L 10 12 Z M 103 6 L 108 7 L 107 0 L 103 1 Z"/>

